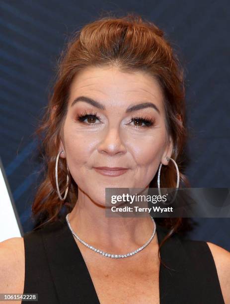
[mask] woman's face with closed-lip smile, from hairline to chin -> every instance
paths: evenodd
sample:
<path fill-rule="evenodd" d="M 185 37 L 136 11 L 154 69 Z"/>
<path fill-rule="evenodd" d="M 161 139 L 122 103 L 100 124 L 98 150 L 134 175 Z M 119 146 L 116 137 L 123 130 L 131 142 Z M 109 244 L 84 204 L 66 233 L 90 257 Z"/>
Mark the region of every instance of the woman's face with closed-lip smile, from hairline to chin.
<path fill-rule="evenodd" d="M 147 187 L 160 162 L 166 165 L 171 156 L 166 140 L 163 95 L 151 76 L 116 67 L 90 67 L 75 76 L 60 157 L 67 158 L 78 187 L 93 201 L 105 204 L 105 188 Z M 98 166 L 128 170 L 105 176 Z"/>

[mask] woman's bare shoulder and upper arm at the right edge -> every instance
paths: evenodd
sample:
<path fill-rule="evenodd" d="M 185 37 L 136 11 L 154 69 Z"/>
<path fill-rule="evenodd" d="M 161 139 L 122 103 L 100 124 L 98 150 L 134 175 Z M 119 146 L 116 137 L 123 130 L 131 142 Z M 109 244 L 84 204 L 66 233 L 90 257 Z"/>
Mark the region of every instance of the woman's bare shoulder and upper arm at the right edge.
<path fill-rule="evenodd" d="M 207 242 L 215 264 L 226 304 L 230 304 L 230 252 L 221 246 Z"/>

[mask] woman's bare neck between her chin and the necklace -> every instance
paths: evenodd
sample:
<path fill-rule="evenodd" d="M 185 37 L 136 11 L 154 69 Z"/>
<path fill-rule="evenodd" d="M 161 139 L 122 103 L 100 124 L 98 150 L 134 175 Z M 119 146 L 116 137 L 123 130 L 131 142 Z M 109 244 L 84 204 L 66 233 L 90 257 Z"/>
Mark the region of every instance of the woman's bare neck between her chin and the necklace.
<path fill-rule="evenodd" d="M 74 232 L 103 251 L 122 254 L 146 243 L 153 233 L 153 221 L 146 217 L 106 217 L 105 208 L 78 191 L 77 203 L 69 214 Z M 151 241 L 157 244 L 156 233 Z"/>

